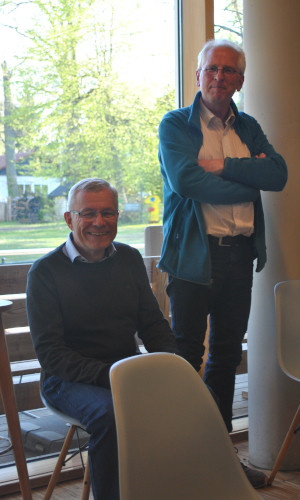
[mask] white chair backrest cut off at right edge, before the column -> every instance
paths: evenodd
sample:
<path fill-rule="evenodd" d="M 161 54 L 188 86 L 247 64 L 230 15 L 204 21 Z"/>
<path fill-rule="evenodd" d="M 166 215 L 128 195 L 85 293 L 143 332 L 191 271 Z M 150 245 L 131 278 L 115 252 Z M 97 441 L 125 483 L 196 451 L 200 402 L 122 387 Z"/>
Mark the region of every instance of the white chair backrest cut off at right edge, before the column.
<path fill-rule="evenodd" d="M 300 280 L 277 283 L 274 293 L 279 364 L 300 381 Z"/>

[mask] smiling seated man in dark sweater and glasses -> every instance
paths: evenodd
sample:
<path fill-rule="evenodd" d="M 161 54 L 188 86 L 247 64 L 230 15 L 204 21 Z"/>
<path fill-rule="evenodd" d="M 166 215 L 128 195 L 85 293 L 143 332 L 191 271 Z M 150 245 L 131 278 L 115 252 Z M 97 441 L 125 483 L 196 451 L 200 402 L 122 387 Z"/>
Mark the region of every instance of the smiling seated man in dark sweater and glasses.
<path fill-rule="evenodd" d="M 36 261 L 28 276 L 27 311 L 43 393 L 86 426 L 96 500 L 118 500 L 118 456 L 111 365 L 138 353 L 179 354 L 152 293 L 140 253 L 117 234 L 118 193 L 101 179 L 70 190 L 66 243 Z"/>

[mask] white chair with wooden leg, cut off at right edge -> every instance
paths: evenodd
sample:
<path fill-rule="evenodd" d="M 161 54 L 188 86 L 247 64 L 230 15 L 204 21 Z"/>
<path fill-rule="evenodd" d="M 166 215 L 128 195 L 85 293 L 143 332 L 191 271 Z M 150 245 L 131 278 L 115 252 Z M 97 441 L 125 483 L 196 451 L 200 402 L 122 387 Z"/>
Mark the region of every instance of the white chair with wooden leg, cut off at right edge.
<path fill-rule="evenodd" d="M 283 372 L 300 382 L 300 280 L 282 281 L 275 285 L 278 361 Z M 299 430 L 300 402 L 290 428 L 277 455 L 268 484 L 271 485 L 288 450 L 293 435 Z"/>

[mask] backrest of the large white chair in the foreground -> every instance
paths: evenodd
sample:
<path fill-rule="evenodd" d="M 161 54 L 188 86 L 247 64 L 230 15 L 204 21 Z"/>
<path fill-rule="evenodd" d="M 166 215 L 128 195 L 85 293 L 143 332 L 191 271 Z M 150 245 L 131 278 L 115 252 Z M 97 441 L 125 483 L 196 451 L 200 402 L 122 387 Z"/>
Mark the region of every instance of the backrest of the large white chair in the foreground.
<path fill-rule="evenodd" d="M 121 500 L 250 500 L 258 495 L 219 410 L 183 358 L 144 354 L 110 371 Z"/>

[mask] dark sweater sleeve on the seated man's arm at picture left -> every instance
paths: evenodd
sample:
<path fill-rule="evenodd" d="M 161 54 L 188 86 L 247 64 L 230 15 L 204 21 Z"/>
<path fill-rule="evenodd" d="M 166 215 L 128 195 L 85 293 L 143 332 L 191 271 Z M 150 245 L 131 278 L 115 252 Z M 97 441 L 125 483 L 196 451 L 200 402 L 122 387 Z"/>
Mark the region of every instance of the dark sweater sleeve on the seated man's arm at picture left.
<path fill-rule="evenodd" d="M 110 387 L 109 364 L 82 356 L 66 344 L 58 294 L 46 259 L 33 264 L 29 272 L 27 313 L 36 355 L 47 375 Z"/>

